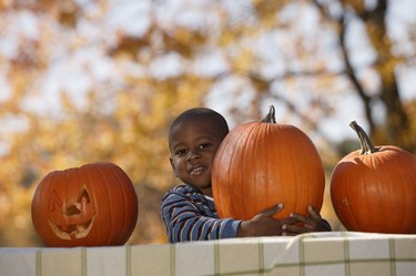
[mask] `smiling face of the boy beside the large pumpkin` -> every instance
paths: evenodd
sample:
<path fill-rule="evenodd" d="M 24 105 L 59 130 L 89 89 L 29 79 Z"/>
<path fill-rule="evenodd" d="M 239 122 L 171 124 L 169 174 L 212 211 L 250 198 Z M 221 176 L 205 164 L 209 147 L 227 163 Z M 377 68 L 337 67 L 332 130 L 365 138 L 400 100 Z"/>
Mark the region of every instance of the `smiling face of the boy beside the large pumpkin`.
<path fill-rule="evenodd" d="M 222 139 L 207 120 L 177 124 L 170 137 L 170 161 L 175 176 L 212 196 L 211 167 Z"/>

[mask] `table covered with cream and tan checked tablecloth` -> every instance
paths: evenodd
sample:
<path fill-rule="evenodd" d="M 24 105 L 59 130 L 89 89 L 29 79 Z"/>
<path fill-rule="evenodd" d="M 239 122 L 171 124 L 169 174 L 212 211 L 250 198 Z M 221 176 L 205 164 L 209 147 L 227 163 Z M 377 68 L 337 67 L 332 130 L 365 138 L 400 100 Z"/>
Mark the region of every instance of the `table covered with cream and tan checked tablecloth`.
<path fill-rule="evenodd" d="M 1 276 L 410 276 L 416 235 L 357 232 L 106 247 L 3 247 Z"/>

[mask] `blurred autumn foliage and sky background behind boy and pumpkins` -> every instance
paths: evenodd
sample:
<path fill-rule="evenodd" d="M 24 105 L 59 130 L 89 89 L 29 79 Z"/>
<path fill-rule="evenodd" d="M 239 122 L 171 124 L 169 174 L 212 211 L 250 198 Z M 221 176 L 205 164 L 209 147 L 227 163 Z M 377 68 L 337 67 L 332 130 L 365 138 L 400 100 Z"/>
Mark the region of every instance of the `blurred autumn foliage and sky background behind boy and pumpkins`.
<path fill-rule="evenodd" d="M 0 1 L 0 246 L 41 246 L 30 204 L 54 170 L 111 161 L 140 201 L 129 244 L 165 243 L 166 131 L 185 109 L 264 116 L 313 140 L 326 171 L 375 144 L 416 153 L 412 0 Z M 328 197 L 322 215 L 342 229 Z"/>

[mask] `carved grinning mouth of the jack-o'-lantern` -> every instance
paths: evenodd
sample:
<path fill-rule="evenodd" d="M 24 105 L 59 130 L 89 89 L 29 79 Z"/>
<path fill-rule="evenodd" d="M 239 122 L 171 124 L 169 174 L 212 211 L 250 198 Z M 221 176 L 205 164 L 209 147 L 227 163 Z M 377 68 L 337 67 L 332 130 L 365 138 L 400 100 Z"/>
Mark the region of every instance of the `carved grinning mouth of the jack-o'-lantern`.
<path fill-rule="evenodd" d="M 92 225 L 95 221 L 94 215 L 91 219 L 84 223 L 71 224 L 71 225 L 57 225 L 51 221 L 48 221 L 49 226 L 53 233 L 62 239 L 78 239 L 87 237 L 90 234 Z"/>

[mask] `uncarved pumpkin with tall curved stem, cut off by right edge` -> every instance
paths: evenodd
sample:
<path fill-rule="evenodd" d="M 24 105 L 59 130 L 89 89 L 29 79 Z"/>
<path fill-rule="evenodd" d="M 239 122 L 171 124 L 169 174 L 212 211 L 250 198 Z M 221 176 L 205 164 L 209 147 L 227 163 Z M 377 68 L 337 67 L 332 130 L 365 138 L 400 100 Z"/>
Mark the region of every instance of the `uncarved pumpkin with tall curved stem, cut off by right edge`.
<path fill-rule="evenodd" d="M 331 177 L 331 200 L 348 231 L 416 233 L 416 159 L 394 145 L 374 146 L 353 121 L 362 149 L 344 156 Z"/>

